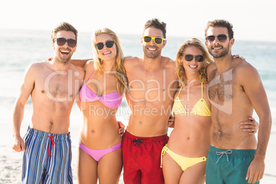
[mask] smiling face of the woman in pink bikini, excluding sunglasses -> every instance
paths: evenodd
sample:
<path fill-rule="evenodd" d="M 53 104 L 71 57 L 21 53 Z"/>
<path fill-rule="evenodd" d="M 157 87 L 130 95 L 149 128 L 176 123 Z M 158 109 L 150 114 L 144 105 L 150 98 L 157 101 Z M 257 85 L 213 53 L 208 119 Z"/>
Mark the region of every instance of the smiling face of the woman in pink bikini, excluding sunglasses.
<path fill-rule="evenodd" d="M 112 37 L 109 34 L 100 34 L 95 39 L 95 43 L 106 43 L 108 41 L 113 41 Z M 95 46 L 94 46 L 95 47 Z M 104 48 L 97 49 L 97 52 L 99 54 L 99 58 L 101 60 L 114 60 L 117 54 L 116 44 L 114 43 L 111 48 L 106 47 L 104 44 Z"/>

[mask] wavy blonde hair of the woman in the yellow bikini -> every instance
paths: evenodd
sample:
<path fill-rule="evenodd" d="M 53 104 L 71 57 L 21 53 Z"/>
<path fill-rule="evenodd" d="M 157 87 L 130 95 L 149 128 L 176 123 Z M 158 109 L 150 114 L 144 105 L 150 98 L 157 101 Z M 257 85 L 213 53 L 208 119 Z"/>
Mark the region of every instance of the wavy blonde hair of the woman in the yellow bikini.
<path fill-rule="evenodd" d="M 187 83 L 187 76 L 185 73 L 185 69 L 183 67 L 183 63 L 181 62 L 181 57 L 184 54 L 184 51 L 187 47 L 198 47 L 203 52 L 204 60 L 203 64 L 201 65 L 201 68 L 198 71 L 198 79 L 200 82 L 206 83 L 208 82 L 207 78 L 207 67 L 208 65 L 213 62 L 211 59 L 207 49 L 205 49 L 205 46 L 203 43 L 198 40 L 198 38 L 192 38 L 189 41 L 185 41 L 181 47 L 179 47 L 179 51 L 177 51 L 176 54 L 176 68 L 175 68 L 175 73 L 176 73 L 176 78 L 179 80 L 179 86 L 183 86 L 183 84 Z"/>

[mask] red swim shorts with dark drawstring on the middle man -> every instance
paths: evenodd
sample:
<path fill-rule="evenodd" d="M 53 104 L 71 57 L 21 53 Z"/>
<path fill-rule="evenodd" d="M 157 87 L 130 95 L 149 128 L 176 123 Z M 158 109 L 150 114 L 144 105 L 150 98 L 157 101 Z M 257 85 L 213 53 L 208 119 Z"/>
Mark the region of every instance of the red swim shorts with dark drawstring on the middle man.
<path fill-rule="evenodd" d="M 165 183 L 160 164 L 168 140 L 168 135 L 136 137 L 126 131 L 122 141 L 124 183 Z"/>

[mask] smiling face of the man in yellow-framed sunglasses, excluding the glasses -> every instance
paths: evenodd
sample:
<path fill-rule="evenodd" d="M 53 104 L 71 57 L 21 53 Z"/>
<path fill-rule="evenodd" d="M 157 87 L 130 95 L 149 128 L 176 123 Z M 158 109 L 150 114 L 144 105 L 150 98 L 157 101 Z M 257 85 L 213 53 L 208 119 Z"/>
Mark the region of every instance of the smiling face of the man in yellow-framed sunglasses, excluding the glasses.
<path fill-rule="evenodd" d="M 150 27 L 143 32 L 143 36 L 161 37 L 164 38 L 163 32 L 157 28 Z M 163 41 L 160 45 L 154 43 L 154 40 L 150 43 L 145 43 L 143 37 L 141 38 L 141 43 L 143 45 L 143 53 L 147 58 L 157 58 L 161 56 L 161 51 L 165 47 L 166 41 Z"/>

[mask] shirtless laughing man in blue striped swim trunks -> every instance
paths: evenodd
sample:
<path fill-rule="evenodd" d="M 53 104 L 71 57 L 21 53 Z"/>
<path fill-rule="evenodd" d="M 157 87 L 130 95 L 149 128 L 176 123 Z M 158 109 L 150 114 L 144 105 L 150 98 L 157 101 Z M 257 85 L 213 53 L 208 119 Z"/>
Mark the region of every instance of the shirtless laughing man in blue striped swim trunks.
<path fill-rule="evenodd" d="M 14 104 L 13 149 L 23 151 L 21 183 L 73 183 L 69 115 L 82 85 L 84 71 L 71 65 L 78 31 L 60 23 L 51 34 L 54 57 L 25 71 Z M 20 135 L 25 104 L 31 95 L 32 122 Z"/>

